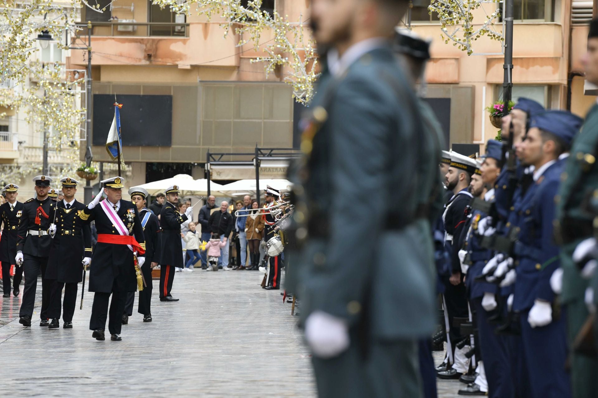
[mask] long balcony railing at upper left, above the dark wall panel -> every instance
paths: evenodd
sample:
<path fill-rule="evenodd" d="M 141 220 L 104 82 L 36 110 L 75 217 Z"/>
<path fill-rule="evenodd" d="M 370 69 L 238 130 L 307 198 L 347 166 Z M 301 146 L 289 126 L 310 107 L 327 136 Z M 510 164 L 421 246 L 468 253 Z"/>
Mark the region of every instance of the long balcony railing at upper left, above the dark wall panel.
<path fill-rule="evenodd" d="M 87 27 L 81 30 L 78 34 L 80 36 L 87 35 Z M 164 36 L 188 38 L 189 24 L 174 22 L 136 22 L 134 20 L 92 22 L 91 35 L 117 37 Z"/>

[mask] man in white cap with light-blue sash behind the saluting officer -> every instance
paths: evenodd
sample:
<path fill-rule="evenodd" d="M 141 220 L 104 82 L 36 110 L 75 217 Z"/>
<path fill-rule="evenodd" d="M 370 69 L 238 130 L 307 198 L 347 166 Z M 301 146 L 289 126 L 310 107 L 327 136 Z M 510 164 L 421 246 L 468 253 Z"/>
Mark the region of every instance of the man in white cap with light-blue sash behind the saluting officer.
<path fill-rule="evenodd" d="M 138 313 L 143 314 L 144 322 L 151 322 L 151 291 L 152 291 L 152 280 L 151 270 L 158 265 L 157 261 L 159 254 L 157 250 L 160 249 L 160 222 L 155 214 L 152 214 L 145 205 L 149 193 L 147 190 L 139 187 L 133 187 L 129 189 L 129 195 L 131 201 L 137 206 L 139 212 L 139 218 L 141 218 L 141 226 L 144 229 L 145 236 L 145 262 L 151 264 L 151 267 L 147 265 L 142 268 L 144 279 L 147 285 L 144 289 L 139 292 L 139 307 Z M 135 292 L 129 292 L 127 294 L 127 304 L 124 308 L 123 314 L 123 325 L 129 323 L 129 317 L 133 314 L 133 302 L 135 301 Z"/>

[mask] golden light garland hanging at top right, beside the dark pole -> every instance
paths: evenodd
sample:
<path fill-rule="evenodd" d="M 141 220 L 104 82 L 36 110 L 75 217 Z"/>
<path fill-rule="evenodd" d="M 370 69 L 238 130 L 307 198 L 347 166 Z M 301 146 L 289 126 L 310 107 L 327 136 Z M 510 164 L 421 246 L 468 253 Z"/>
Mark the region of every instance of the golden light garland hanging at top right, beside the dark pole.
<path fill-rule="evenodd" d="M 428 6 L 428 13 L 437 13 L 441 23 L 441 35 L 445 44 L 453 41 L 453 45 L 459 50 L 466 51 L 467 55 L 474 53 L 472 42 L 482 36 L 487 36 L 492 40 L 504 41 L 502 33 L 495 29 L 495 23 L 501 16 L 501 10 L 496 7 L 492 14 L 486 15 L 486 19 L 480 27 L 474 28 L 474 14 L 483 3 L 499 4 L 500 0 L 480 1 L 480 0 L 433 0 Z"/>

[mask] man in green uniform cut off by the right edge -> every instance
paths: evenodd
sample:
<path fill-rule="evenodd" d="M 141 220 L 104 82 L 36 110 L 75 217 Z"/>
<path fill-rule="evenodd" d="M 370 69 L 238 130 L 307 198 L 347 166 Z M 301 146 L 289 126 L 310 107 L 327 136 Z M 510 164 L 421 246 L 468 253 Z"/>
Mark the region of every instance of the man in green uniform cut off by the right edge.
<path fill-rule="evenodd" d="M 585 78 L 598 84 L 598 20 L 590 24 L 588 51 L 582 59 Z M 588 112 L 581 132 L 575 137 L 571 156 L 566 161 L 565 173 L 557 208 L 557 239 L 562 243 L 561 265 L 562 303 L 566 305 L 568 340 L 571 348 L 571 384 L 574 398 L 598 396 L 598 358 L 574 350 L 573 342 L 588 317 L 588 308 L 584 303 L 585 292 L 591 275 L 582 275 L 581 266 L 572 260 L 573 252 L 579 243 L 593 237 L 595 215 L 588 208 L 588 203 L 598 189 L 598 104 Z M 583 247 L 579 247 L 576 257 L 584 258 Z M 596 273 L 596 271 L 594 271 Z M 585 276 L 585 277 L 584 277 Z"/>

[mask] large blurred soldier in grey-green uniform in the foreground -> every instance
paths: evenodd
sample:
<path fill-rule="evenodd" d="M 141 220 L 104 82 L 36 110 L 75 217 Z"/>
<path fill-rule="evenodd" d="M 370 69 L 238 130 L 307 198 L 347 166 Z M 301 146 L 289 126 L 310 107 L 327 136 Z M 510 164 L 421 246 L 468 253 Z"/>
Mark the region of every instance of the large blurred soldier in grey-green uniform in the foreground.
<path fill-rule="evenodd" d="M 436 310 L 418 180 L 428 130 L 392 51 L 406 10 L 404 0 L 312 1 L 327 64 L 301 140 L 294 218 L 321 397 L 422 397 L 417 342 L 434 332 Z"/>

